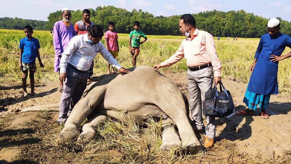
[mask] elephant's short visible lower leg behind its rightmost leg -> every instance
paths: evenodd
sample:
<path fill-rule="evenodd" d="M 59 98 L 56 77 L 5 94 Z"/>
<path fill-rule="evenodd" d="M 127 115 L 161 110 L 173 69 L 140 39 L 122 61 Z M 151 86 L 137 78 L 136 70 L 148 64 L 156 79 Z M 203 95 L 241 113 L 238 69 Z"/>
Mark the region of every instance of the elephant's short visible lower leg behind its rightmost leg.
<path fill-rule="evenodd" d="M 181 143 L 178 132 L 175 129 L 175 124 L 171 118 L 162 120 L 162 145 L 160 150 L 171 151 L 174 147 L 178 147 Z"/>

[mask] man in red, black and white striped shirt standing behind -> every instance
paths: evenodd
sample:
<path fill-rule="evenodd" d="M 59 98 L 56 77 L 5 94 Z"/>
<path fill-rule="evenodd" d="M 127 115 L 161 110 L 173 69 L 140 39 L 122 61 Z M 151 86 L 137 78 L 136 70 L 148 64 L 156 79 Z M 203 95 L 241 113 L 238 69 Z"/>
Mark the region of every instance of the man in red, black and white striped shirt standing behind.
<path fill-rule="evenodd" d="M 90 10 L 84 9 L 82 17 L 83 17 L 82 20 L 79 20 L 78 22 L 75 23 L 75 31 L 77 32 L 78 35 L 87 34 L 89 28 L 92 25 L 95 25 L 93 22 L 90 21 L 90 18 L 91 18 Z M 92 81 L 91 76 L 93 75 L 93 68 L 94 68 L 94 61 L 92 62 L 91 67 L 89 69 L 88 81 Z"/>

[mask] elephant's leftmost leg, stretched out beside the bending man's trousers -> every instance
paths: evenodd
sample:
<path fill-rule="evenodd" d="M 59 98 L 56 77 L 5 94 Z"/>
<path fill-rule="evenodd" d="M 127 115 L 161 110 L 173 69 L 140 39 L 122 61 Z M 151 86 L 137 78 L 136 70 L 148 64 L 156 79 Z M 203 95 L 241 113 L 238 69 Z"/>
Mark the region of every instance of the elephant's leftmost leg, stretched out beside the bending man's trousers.
<path fill-rule="evenodd" d="M 60 133 L 61 142 L 75 140 L 79 137 L 79 126 L 93 109 L 104 99 L 106 85 L 93 88 L 73 108 L 72 113 Z"/>

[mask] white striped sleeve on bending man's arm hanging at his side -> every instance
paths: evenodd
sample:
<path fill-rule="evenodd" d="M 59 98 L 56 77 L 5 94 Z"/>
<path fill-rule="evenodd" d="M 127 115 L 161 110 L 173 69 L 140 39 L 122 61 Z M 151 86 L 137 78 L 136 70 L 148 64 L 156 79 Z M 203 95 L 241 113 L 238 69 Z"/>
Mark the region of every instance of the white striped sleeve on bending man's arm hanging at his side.
<path fill-rule="evenodd" d="M 78 47 L 78 40 L 72 38 L 67 47 L 65 48 L 64 52 L 61 54 L 61 62 L 60 62 L 60 73 L 66 73 L 66 67 L 69 61 L 69 57 L 74 53 L 74 51 Z"/>

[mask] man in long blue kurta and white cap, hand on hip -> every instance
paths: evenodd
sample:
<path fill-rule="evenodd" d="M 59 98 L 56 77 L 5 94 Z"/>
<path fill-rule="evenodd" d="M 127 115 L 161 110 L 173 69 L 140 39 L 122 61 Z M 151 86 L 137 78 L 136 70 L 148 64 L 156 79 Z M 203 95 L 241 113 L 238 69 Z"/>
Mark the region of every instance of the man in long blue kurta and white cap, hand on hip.
<path fill-rule="evenodd" d="M 269 34 L 262 35 L 255 59 L 250 66 L 252 74 L 243 100 L 248 109 L 237 111 L 238 115 L 253 115 L 259 105 L 262 110 L 261 117 L 269 118 L 266 109 L 269 106 L 270 96 L 278 94 L 279 61 L 291 56 L 291 52 L 281 56 L 286 46 L 291 48 L 291 38 L 282 34 L 280 29 L 278 19 L 269 20 Z"/>

